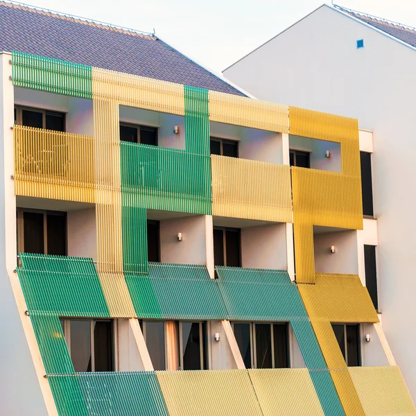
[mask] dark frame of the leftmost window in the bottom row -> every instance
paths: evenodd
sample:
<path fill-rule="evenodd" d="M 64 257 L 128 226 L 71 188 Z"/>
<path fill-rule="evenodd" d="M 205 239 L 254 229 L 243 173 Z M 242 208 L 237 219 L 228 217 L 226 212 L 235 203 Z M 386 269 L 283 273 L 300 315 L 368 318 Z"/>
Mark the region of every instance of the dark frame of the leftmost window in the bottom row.
<path fill-rule="evenodd" d="M 111 354 L 111 362 L 112 362 L 112 370 L 111 372 L 116 372 L 116 320 L 103 318 L 103 319 L 87 319 L 87 318 L 67 318 L 67 317 L 60 317 L 60 322 L 62 325 L 62 331 L 64 333 L 64 339 L 67 343 L 67 348 L 69 352 L 69 356 L 71 356 L 71 321 L 86 321 L 90 324 L 90 350 L 91 350 L 91 372 L 95 371 L 95 340 L 94 340 L 94 322 L 111 322 L 111 336 L 112 336 L 112 354 Z M 72 358 L 71 358 L 72 361 Z"/>

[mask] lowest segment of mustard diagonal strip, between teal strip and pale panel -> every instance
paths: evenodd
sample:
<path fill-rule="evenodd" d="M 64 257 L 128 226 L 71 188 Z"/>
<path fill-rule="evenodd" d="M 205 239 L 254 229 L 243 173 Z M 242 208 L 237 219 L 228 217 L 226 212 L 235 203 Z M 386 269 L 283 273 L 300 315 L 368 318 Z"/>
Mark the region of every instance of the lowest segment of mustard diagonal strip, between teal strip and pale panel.
<path fill-rule="evenodd" d="M 329 370 L 333 385 L 343 405 L 345 416 L 365 416 L 363 406 L 358 397 L 351 376 L 347 368 L 343 370 Z"/>

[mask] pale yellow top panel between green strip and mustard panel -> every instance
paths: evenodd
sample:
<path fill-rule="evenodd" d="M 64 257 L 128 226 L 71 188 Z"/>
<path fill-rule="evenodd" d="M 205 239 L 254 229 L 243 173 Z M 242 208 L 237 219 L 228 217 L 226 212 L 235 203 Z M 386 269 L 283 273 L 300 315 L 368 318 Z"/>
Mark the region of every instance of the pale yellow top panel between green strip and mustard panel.
<path fill-rule="evenodd" d="M 209 120 L 272 132 L 289 132 L 288 106 L 209 91 Z"/>

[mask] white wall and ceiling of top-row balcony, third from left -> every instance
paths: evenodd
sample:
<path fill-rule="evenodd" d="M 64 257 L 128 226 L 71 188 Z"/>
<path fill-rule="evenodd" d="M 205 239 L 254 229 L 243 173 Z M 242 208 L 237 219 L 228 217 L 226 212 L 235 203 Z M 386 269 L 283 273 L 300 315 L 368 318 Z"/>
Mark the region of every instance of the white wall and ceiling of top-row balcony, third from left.
<path fill-rule="evenodd" d="M 241 159 L 283 164 L 283 145 L 280 133 L 245 128 L 225 123 L 209 123 L 211 137 L 239 141 Z"/>

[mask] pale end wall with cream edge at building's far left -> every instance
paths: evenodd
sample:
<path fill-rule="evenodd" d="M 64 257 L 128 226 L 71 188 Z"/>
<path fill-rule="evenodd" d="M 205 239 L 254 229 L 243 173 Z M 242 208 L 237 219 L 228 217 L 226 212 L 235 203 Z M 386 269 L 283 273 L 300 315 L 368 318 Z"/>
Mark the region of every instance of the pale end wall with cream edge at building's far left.
<path fill-rule="evenodd" d="M 0 316 L 1 415 L 58 416 L 27 310 L 17 266 L 10 53 L 0 54 Z M 23 396 L 24 395 L 24 398 Z"/>

